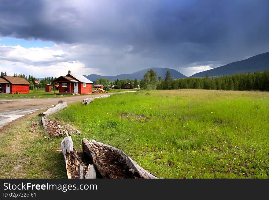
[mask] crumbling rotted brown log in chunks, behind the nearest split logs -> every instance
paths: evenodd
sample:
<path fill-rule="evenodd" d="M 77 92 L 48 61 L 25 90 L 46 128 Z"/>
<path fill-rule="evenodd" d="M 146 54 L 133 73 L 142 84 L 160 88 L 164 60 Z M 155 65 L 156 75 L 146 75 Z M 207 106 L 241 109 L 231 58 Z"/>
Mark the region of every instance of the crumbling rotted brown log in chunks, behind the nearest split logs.
<path fill-rule="evenodd" d="M 79 130 L 75 129 L 70 124 L 63 125 L 61 124 L 57 118 L 49 119 L 47 117 L 42 117 L 42 124 L 44 129 L 47 131 L 49 138 L 52 137 L 67 137 L 72 134 L 78 134 L 81 133 Z"/>

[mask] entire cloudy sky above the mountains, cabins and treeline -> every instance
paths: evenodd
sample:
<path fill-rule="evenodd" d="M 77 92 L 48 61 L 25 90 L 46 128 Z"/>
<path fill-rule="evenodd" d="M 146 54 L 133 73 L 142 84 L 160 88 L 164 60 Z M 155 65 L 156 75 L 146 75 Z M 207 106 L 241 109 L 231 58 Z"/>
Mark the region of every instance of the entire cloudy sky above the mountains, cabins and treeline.
<path fill-rule="evenodd" d="M 191 76 L 269 51 L 268 0 L 2 0 L 0 71 L 58 77 L 165 67 Z"/>

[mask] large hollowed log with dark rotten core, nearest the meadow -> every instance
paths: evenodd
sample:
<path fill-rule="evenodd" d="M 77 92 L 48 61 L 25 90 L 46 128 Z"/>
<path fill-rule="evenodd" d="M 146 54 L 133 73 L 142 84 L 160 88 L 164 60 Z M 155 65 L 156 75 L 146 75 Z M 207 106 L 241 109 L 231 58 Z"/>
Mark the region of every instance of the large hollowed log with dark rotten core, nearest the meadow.
<path fill-rule="evenodd" d="M 82 148 L 103 178 L 157 178 L 115 147 L 83 138 Z"/>

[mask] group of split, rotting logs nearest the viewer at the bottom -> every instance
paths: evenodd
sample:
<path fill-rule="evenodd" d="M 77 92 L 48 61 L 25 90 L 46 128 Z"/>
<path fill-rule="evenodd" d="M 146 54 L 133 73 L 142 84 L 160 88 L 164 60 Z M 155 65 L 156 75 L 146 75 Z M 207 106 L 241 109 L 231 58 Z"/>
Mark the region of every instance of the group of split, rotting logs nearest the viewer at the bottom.
<path fill-rule="evenodd" d="M 115 147 L 94 140 L 88 141 L 86 138 L 83 138 L 82 148 L 83 159 L 78 156 L 79 154 L 76 149 L 73 148 L 73 141 L 70 136 L 64 138 L 61 142 L 67 177 L 69 179 L 157 179 L 156 175 L 140 167 L 123 151 Z"/>

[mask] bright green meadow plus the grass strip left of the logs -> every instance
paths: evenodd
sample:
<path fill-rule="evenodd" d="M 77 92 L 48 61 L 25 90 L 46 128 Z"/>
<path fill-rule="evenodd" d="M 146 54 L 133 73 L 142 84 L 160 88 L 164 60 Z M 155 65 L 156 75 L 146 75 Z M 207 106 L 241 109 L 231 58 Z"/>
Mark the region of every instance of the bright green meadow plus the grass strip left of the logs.
<path fill-rule="evenodd" d="M 113 94 L 58 117 L 82 138 L 123 150 L 159 178 L 268 178 L 269 92 L 161 90 Z M 1 178 L 66 178 L 62 138 L 46 139 L 32 114 L 0 134 Z"/>

